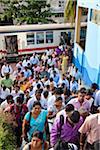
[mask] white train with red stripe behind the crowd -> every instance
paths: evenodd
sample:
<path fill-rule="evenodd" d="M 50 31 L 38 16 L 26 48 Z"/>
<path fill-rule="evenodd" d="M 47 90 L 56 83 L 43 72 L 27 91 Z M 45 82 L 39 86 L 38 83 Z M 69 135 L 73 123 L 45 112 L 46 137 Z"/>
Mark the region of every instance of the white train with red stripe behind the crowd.
<path fill-rule="evenodd" d="M 84 39 L 86 23 L 81 23 L 81 38 Z M 12 56 L 44 52 L 55 49 L 68 39 L 74 41 L 75 24 L 34 24 L 0 26 L 0 56 Z"/>

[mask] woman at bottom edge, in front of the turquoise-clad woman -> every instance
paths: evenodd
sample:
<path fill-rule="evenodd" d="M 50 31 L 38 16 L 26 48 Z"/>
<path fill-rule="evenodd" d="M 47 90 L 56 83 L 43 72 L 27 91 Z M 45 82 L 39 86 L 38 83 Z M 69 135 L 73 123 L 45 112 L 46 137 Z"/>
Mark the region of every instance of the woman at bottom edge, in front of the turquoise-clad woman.
<path fill-rule="evenodd" d="M 48 143 L 43 140 L 43 133 L 36 131 L 30 143 L 23 150 L 48 150 Z"/>

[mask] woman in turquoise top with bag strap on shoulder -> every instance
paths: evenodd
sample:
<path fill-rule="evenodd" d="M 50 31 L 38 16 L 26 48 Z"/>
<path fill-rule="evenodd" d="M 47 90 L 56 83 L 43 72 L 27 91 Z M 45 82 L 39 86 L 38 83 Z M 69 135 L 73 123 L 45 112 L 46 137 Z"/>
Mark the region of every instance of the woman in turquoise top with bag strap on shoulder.
<path fill-rule="evenodd" d="M 23 120 L 22 132 L 25 140 L 28 138 L 28 141 L 30 142 L 35 131 L 44 132 L 44 139 L 46 138 L 45 123 L 47 114 L 46 110 L 41 109 L 40 102 L 34 102 L 32 112 L 28 112 Z M 29 125 L 29 131 L 26 131 L 26 125 Z"/>

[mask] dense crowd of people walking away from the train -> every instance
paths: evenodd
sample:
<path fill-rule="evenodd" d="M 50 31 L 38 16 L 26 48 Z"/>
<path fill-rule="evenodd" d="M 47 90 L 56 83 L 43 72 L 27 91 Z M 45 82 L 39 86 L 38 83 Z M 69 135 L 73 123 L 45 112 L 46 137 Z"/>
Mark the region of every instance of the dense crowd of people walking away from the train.
<path fill-rule="evenodd" d="M 82 87 L 71 49 L 26 55 L 1 67 L 0 109 L 11 113 L 21 150 L 99 150 L 100 90 Z"/>

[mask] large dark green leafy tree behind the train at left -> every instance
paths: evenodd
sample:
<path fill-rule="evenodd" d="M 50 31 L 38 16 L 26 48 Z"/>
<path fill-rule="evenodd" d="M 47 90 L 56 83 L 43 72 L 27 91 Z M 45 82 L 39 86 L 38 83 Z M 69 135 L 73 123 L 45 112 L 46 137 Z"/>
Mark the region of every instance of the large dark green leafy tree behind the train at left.
<path fill-rule="evenodd" d="M 12 19 L 14 24 L 37 24 L 53 22 L 47 0 L 0 0 L 4 5 L 0 19 Z"/>

